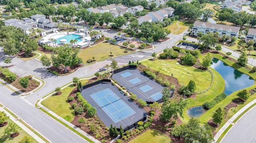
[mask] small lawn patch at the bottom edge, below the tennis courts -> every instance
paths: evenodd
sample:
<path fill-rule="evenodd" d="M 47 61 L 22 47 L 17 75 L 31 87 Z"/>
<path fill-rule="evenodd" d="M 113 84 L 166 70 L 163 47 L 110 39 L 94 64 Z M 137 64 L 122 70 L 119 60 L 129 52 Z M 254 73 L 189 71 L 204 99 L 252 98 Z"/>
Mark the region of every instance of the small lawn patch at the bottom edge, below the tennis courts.
<path fill-rule="evenodd" d="M 172 143 L 172 140 L 160 131 L 150 129 L 129 143 Z"/>

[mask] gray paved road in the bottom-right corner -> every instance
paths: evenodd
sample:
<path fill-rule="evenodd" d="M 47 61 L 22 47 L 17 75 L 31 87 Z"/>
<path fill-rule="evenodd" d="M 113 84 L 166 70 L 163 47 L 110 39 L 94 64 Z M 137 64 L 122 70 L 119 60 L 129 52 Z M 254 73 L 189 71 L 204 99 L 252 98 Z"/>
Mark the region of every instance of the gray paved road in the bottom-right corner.
<path fill-rule="evenodd" d="M 256 143 L 256 108 L 247 112 L 226 133 L 221 143 Z"/>

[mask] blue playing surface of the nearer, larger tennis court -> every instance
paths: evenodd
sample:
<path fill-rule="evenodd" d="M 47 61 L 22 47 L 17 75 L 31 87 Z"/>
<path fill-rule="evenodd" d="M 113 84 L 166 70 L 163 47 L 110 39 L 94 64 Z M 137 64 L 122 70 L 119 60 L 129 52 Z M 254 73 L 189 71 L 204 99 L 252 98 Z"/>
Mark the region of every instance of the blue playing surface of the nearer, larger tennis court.
<path fill-rule="evenodd" d="M 122 98 L 119 98 L 109 88 L 90 95 L 92 99 L 116 123 L 135 113 Z"/>

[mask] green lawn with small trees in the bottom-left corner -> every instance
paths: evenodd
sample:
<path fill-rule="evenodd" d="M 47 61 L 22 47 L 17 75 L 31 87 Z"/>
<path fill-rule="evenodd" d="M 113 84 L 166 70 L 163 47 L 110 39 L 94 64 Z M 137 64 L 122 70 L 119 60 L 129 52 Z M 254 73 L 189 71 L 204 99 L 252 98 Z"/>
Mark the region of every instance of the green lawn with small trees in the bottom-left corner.
<path fill-rule="evenodd" d="M 14 123 L 11 119 L 8 119 L 7 121 L 8 121 L 8 124 Z M 4 127 L 0 127 L 0 143 L 18 143 L 24 136 L 30 137 L 30 140 L 32 141 L 32 143 L 38 143 L 34 138 L 32 138 L 26 131 L 21 129 L 19 126 L 17 128 L 18 132 L 20 133 L 18 137 L 9 138 L 4 136 L 3 132 L 4 132 L 4 129 L 8 126 L 8 124 Z"/>

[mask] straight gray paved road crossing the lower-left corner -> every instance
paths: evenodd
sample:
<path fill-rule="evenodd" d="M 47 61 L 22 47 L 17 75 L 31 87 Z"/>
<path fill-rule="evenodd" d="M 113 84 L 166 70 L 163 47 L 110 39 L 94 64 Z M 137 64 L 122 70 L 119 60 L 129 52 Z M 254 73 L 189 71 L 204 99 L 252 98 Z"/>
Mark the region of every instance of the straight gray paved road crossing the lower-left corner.
<path fill-rule="evenodd" d="M 0 84 L 0 101 L 53 143 L 87 142 Z"/>

